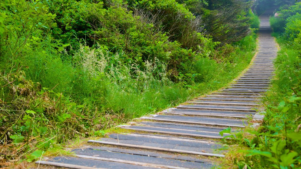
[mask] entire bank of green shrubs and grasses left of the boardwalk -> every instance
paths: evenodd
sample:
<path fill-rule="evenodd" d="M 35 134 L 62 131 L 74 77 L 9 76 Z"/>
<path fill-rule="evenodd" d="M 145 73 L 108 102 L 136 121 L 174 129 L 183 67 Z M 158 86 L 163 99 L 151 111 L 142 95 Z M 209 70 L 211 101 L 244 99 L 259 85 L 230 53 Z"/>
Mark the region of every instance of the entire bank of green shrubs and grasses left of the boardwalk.
<path fill-rule="evenodd" d="M 250 3 L 182 3 L 4 0 L 1 159 L 32 161 L 239 75 L 256 48 Z M 225 7 L 237 10 L 227 19 Z"/>

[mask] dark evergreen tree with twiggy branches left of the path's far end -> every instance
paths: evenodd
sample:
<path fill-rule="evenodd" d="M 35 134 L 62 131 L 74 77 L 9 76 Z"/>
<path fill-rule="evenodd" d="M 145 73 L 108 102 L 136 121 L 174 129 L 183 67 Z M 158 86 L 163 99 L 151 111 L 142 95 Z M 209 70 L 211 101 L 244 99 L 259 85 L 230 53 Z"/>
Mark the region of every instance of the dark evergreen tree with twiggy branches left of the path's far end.
<path fill-rule="evenodd" d="M 205 34 L 222 44 L 239 41 L 250 29 L 251 3 L 241 0 L 178 0 L 201 19 Z M 255 25 L 254 25 L 255 26 Z M 258 28 L 258 27 L 253 27 Z"/>

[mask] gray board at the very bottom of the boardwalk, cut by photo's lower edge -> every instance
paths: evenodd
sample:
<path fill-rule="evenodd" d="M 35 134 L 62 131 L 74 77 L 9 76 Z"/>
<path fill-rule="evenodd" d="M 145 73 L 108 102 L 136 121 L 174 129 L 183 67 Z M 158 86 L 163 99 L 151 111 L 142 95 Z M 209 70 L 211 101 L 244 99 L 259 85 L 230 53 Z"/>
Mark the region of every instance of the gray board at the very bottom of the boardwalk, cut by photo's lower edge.
<path fill-rule="evenodd" d="M 76 157 L 54 157 L 53 159 L 49 160 L 52 162 L 59 162 L 64 164 L 75 164 L 80 166 L 86 167 L 99 167 L 99 168 L 114 168 L 114 169 L 124 169 L 124 168 L 131 168 L 131 169 L 147 169 L 152 167 L 143 167 L 138 165 L 131 165 L 131 164 L 123 164 L 117 162 L 109 162 L 109 161 L 100 161 L 100 160 L 91 160 L 85 158 L 76 158 Z"/>

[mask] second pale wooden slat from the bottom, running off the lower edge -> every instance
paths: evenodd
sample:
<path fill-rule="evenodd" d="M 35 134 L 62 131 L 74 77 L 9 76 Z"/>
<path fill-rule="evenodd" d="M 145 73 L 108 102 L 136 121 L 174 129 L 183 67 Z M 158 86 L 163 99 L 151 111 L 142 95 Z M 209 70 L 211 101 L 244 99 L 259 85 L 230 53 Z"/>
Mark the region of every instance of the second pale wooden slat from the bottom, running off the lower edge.
<path fill-rule="evenodd" d="M 79 157 L 79 158 L 87 158 L 87 159 L 92 159 L 92 160 L 118 162 L 118 163 L 123 163 L 123 164 L 139 165 L 139 166 L 143 166 L 143 167 L 188 169 L 188 168 L 184 168 L 184 167 L 175 167 L 175 166 L 169 166 L 169 165 L 151 164 L 151 163 L 144 163 L 144 162 L 137 162 L 137 161 L 122 160 L 122 159 L 117 159 L 117 158 L 103 158 L 103 157 L 94 157 L 94 156 L 79 155 L 79 154 L 76 154 L 75 156 Z"/>

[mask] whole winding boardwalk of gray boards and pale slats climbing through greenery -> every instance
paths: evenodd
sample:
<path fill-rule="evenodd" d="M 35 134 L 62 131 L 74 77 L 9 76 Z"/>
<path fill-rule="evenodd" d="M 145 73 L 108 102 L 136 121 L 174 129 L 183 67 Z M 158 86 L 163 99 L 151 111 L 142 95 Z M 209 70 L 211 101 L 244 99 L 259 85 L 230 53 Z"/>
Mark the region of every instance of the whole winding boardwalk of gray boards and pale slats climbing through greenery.
<path fill-rule="evenodd" d="M 240 130 L 262 120 L 260 98 L 274 76 L 277 43 L 271 36 L 269 15 L 260 16 L 258 53 L 249 68 L 228 88 L 195 98 L 160 115 L 145 116 L 121 128 L 131 131 L 89 140 L 75 157 L 37 161 L 68 168 L 211 168 L 222 158 L 218 142 L 225 128 Z M 224 136 L 226 136 L 225 134 Z M 208 158 L 214 157 L 214 158 Z M 40 165 L 41 167 L 41 165 Z"/>

